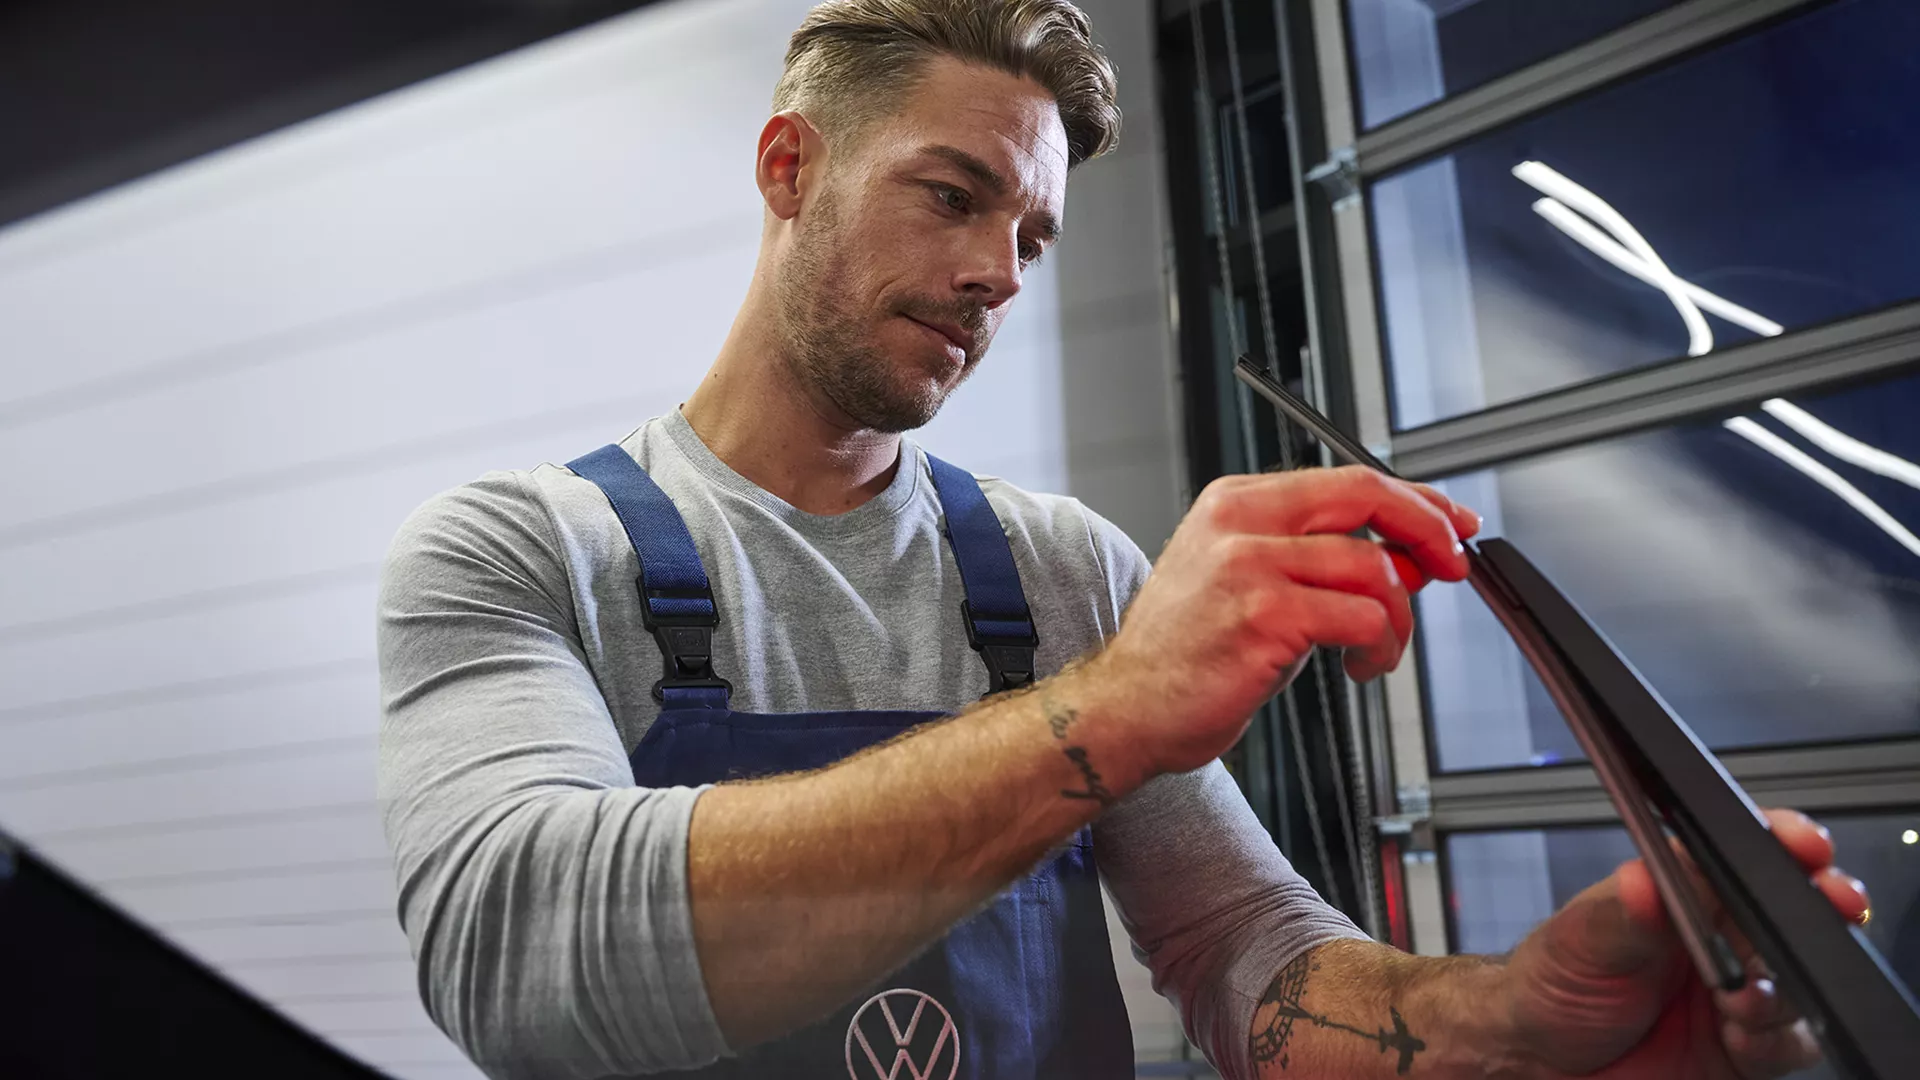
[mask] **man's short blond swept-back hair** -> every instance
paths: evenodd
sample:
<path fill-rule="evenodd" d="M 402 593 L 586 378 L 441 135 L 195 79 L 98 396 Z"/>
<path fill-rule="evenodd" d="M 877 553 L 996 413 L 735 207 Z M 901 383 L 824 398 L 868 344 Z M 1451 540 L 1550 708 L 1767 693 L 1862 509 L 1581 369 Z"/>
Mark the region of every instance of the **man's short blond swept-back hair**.
<path fill-rule="evenodd" d="M 1060 106 L 1069 169 L 1119 138 L 1114 65 L 1068 0 L 828 0 L 793 31 L 774 111 L 854 133 L 902 100 L 935 56 L 1044 86 Z"/>

